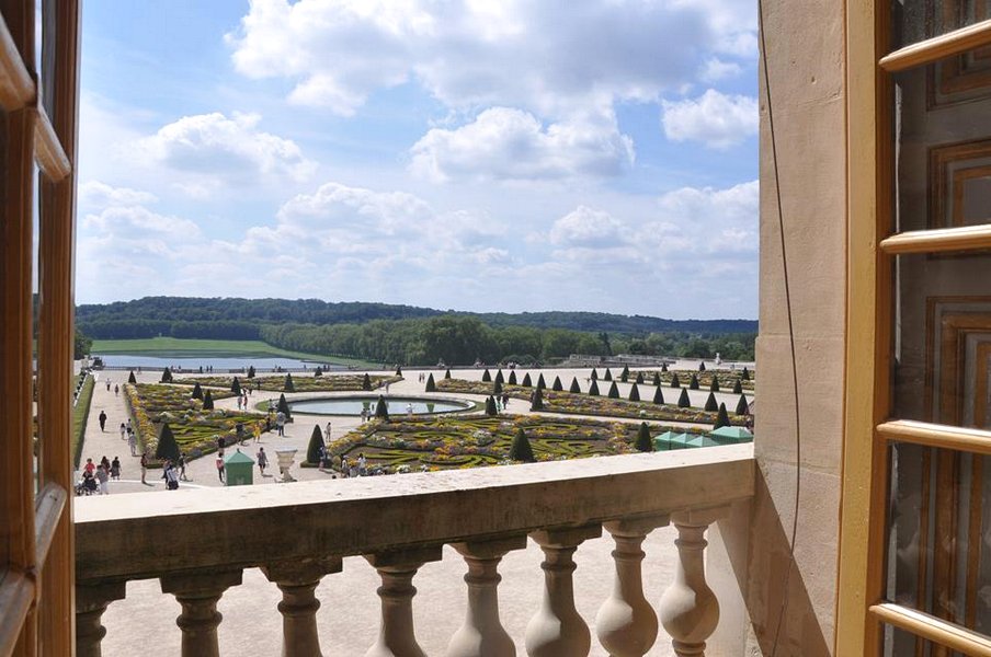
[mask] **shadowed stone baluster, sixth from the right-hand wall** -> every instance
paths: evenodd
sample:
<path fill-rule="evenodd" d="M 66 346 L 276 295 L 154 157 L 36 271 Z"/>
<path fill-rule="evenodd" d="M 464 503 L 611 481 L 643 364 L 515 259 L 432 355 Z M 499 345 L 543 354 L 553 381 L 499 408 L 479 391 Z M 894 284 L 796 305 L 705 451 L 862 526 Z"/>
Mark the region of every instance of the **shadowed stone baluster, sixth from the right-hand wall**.
<path fill-rule="evenodd" d="M 282 591 L 283 657 L 322 657 L 317 634 L 320 601 L 314 595 L 324 575 L 341 572 L 340 557 L 277 562 L 262 566 L 262 573 Z"/>

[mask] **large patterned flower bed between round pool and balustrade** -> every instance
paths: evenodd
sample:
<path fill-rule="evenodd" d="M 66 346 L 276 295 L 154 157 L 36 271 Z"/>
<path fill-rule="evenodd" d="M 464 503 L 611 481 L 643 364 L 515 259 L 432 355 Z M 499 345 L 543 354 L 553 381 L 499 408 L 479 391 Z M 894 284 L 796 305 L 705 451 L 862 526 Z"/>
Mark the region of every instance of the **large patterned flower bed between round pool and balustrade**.
<path fill-rule="evenodd" d="M 639 425 L 591 419 L 559 419 L 537 415 L 468 415 L 373 420 L 335 440 L 330 454 L 354 461 L 365 454 L 368 469 L 451 470 L 510 463 L 516 430 L 529 439 L 537 461 L 557 461 L 634 452 Z M 651 434 L 671 427 L 651 426 Z"/>

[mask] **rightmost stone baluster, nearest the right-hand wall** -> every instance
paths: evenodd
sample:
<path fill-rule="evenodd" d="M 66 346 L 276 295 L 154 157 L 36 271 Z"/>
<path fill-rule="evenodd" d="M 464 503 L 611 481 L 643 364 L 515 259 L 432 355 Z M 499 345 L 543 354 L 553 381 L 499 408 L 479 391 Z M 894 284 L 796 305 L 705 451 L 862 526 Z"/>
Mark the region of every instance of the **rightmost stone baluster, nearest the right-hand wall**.
<path fill-rule="evenodd" d="M 726 507 L 681 511 L 671 516 L 677 529 L 674 581 L 661 596 L 660 615 L 679 657 L 705 655 L 705 641 L 719 624 L 719 601 L 705 580 L 705 531 Z"/>

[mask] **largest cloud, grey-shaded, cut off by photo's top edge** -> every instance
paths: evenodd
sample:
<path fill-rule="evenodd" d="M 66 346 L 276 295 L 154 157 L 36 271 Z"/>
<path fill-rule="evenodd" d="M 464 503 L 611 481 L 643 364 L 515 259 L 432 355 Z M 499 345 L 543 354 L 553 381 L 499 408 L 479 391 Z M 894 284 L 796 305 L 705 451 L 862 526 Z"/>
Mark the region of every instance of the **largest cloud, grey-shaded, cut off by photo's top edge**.
<path fill-rule="evenodd" d="M 227 41 L 242 74 L 287 78 L 291 101 L 344 116 L 411 79 L 447 106 L 560 116 L 656 100 L 691 83 L 709 54 L 744 54 L 755 43 L 750 4 L 254 0 Z"/>

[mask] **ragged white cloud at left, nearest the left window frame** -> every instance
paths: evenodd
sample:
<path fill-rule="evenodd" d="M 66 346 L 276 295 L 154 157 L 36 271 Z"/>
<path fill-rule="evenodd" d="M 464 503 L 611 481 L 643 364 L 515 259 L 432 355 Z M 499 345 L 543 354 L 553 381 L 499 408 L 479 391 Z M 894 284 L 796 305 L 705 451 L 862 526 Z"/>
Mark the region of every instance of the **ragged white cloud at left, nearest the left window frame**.
<path fill-rule="evenodd" d="M 292 140 L 258 129 L 260 122 L 257 114 L 237 112 L 230 118 L 218 112 L 184 116 L 139 139 L 135 159 L 193 174 L 176 185 L 193 195 L 221 181 L 308 180 L 316 163 Z"/>

